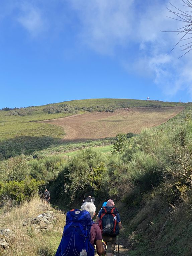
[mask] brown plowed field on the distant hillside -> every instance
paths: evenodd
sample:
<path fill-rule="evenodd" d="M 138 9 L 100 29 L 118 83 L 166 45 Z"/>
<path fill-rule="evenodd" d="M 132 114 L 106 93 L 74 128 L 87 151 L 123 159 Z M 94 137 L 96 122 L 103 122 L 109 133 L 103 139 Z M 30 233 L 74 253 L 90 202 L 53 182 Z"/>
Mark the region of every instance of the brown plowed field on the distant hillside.
<path fill-rule="evenodd" d="M 143 127 L 157 126 L 177 115 L 183 107 L 140 107 L 116 109 L 114 113 L 93 112 L 42 121 L 65 129 L 65 141 L 115 137 L 117 133 L 139 133 Z"/>

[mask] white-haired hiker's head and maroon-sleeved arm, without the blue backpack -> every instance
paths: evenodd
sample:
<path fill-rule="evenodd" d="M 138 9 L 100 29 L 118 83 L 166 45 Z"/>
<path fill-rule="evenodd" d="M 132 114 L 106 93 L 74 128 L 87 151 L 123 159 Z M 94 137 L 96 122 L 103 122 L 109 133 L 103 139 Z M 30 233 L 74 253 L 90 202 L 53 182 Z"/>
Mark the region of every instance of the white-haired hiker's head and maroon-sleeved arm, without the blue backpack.
<path fill-rule="evenodd" d="M 93 203 L 86 202 L 81 205 L 81 210 L 87 210 L 90 213 L 91 218 L 93 218 L 95 216 L 96 207 Z M 102 255 L 105 252 L 105 246 L 102 243 L 101 230 L 96 223 L 91 227 L 90 242 L 93 246 L 96 245 L 98 255 Z"/>

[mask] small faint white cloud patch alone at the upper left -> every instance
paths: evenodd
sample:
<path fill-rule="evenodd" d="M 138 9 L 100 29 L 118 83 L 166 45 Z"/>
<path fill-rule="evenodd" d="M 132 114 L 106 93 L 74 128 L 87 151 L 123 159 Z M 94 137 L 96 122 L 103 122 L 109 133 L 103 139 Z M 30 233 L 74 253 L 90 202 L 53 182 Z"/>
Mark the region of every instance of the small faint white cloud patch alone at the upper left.
<path fill-rule="evenodd" d="M 27 2 L 20 5 L 20 15 L 17 21 L 32 35 L 37 36 L 46 30 L 46 23 L 41 10 Z"/>

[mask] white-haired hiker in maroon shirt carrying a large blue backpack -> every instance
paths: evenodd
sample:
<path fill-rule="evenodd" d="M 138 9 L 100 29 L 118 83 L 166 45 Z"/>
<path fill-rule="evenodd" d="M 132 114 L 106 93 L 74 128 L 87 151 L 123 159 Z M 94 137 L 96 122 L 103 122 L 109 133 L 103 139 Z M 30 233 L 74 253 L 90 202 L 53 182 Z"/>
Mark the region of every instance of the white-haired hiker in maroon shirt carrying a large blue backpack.
<path fill-rule="evenodd" d="M 98 255 L 105 252 L 101 230 L 92 221 L 95 211 L 95 205 L 86 202 L 80 210 L 73 209 L 67 212 L 63 237 L 55 256 L 94 256 L 94 245 Z"/>

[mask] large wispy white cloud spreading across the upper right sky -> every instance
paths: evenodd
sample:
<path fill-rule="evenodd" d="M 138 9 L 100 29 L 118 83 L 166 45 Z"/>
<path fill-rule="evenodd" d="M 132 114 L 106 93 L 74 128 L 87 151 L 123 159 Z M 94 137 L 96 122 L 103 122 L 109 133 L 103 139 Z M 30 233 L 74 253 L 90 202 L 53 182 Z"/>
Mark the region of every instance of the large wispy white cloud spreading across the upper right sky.
<path fill-rule="evenodd" d="M 172 0 L 179 8 L 182 1 Z M 177 47 L 181 35 L 162 32 L 176 30 L 183 24 L 167 16 L 168 0 L 147 1 L 137 5 L 135 0 L 72 0 L 80 19 L 83 44 L 102 54 L 115 55 L 129 72 L 153 77 L 154 82 L 169 96 L 187 88 L 192 97 L 191 54 L 182 55 Z M 172 17 L 174 17 L 172 15 Z M 116 49 L 122 48 L 123 54 Z M 134 52 L 134 57 L 128 54 Z M 126 56 L 126 57 L 125 57 Z M 131 57 L 130 57 L 131 56 Z"/>

